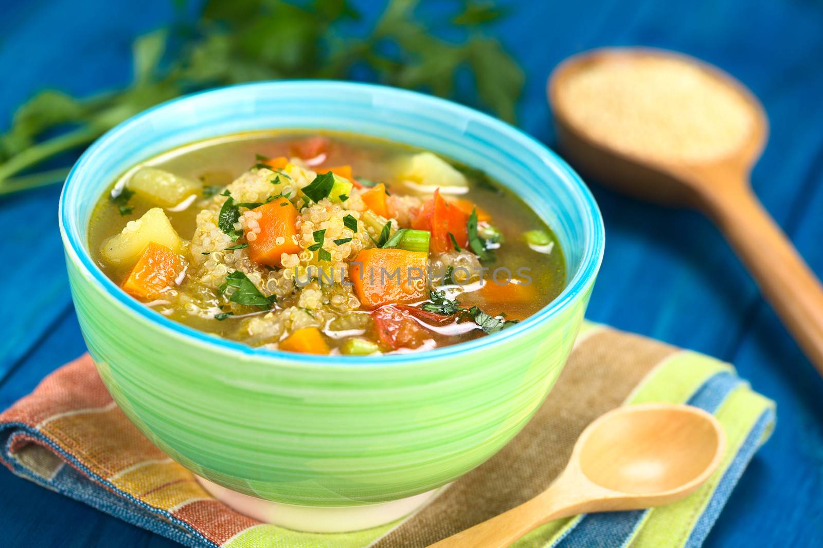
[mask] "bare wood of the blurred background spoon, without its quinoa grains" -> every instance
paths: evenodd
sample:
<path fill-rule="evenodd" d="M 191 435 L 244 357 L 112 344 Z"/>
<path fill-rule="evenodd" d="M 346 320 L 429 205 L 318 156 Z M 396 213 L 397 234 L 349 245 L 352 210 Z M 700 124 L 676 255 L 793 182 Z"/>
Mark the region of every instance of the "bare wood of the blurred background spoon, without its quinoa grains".
<path fill-rule="evenodd" d="M 593 138 L 586 127 L 571 122 L 574 98 L 560 100 L 562 90 L 569 89 L 565 86 L 571 77 L 597 63 L 641 62 L 649 57 L 688 62 L 739 95 L 748 107 L 751 124 L 736 150 L 706 161 L 661 160 L 616 150 L 604 140 Z M 602 48 L 561 63 L 549 80 L 548 96 L 560 148 L 580 171 L 637 198 L 667 205 L 691 205 L 714 220 L 823 375 L 820 280 L 751 191 L 751 167 L 760 157 L 768 133 L 765 112 L 754 95 L 725 72 L 695 58 L 651 48 Z"/>

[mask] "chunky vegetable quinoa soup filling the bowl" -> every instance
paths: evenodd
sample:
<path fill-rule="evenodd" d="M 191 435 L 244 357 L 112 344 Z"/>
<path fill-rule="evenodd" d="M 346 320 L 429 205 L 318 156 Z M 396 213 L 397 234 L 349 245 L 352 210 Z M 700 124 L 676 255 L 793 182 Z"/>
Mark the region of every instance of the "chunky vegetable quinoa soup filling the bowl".
<path fill-rule="evenodd" d="M 253 132 L 124 173 L 97 265 L 162 315 L 251 346 L 412 352 L 492 334 L 564 288 L 551 229 L 485 173 L 365 136 Z"/>

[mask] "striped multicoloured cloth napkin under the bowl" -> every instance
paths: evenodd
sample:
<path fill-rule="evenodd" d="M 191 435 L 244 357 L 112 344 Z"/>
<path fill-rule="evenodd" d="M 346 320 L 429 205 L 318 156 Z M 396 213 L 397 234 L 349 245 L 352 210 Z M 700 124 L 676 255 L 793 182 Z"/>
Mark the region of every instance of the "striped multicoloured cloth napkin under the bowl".
<path fill-rule="evenodd" d="M 774 403 L 752 392 L 727 363 L 602 325 L 584 325 L 546 403 L 500 453 L 412 516 L 365 531 L 289 531 L 212 499 L 120 412 L 87 355 L 0 415 L 0 458 L 21 477 L 185 546 L 428 546 L 546 489 L 595 417 L 650 402 L 690 403 L 714 413 L 728 435 L 728 454 L 714 476 L 675 504 L 557 520 L 515 546 L 700 546 L 769 436 Z"/>

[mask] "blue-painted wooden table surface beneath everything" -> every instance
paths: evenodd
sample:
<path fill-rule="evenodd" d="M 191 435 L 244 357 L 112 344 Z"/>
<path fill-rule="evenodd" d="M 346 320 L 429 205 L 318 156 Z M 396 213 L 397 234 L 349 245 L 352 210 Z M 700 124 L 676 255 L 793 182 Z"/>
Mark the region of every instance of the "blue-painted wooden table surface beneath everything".
<path fill-rule="evenodd" d="M 823 274 L 823 2 L 516 4 L 495 33 L 528 74 L 520 125 L 549 145 L 546 76 L 586 48 L 678 49 L 751 86 L 771 122 L 755 190 Z M 133 37 L 169 21 L 172 9 L 165 0 L 2 0 L 0 14 L 3 128 L 35 90 L 57 86 L 86 94 L 128 81 Z M 708 221 L 592 187 L 606 222 L 607 252 L 588 317 L 732 361 L 756 390 L 778 402 L 777 430 L 707 546 L 820 546 L 823 380 Z M 0 409 L 84 350 L 63 265 L 58 194 L 53 187 L 0 200 Z M 6 470 L 0 470 L 0 526 L 2 546 L 176 546 Z"/>

